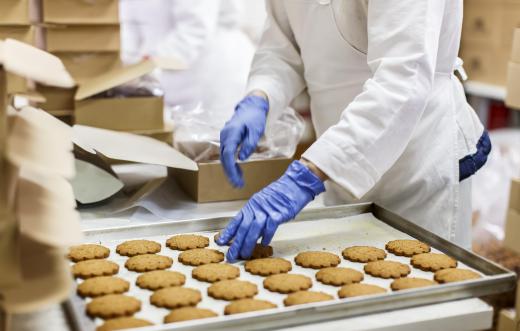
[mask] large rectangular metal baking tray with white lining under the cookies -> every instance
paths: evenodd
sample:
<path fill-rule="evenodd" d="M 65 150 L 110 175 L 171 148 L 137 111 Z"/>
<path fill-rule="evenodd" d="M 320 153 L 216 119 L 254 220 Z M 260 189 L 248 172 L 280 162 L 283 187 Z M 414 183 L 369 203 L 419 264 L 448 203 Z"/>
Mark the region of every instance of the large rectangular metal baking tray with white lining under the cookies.
<path fill-rule="evenodd" d="M 311 303 L 293 307 L 284 307 L 285 295 L 272 293 L 262 286 L 263 277 L 254 276 L 244 270 L 244 262 L 237 263 L 240 267 L 240 279 L 257 284 L 259 294 L 256 298 L 270 300 L 278 308 L 224 316 L 223 310 L 228 302 L 215 300 L 207 296 L 210 284 L 191 278 L 192 267 L 178 262 L 179 252 L 167 248 L 164 243 L 168 237 L 179 233 L 199 233 L 210 237 L 210 247 L 216 248 L 213 235 L 225 227 L 229 218 L 208 218 L 182 221 L 167 221 L 150 225 L 138 225 L 119 228 L 107 228 L 85 231 L 85 242 L 101 243 L 111 249 L 109 259 L 119 263 L 119 277 L 131 283 L 129 295 L 142 301 L 142 310 L 135 316 L 151 320 L 157 325 L 139 330 L 266 330 L 302 324 L 343 319 L 356 315 L 372 314 L 388 310 L 415 307 L 419 305 L 440 303 L 456 299 L 480 297 L 498 294 L 514 288 L 516 275 L 471 251 L 465 250 L 404 218 L 373 203 L 324 207 L 305 210 L 292 222 L 284 224 L 272 242 L 274 256 L 293 260 L 294 256 L 305 250 L 327 250 L 341 256 L 341 250 L 353 245 L 373 245 L 384 248 L 386 242 L 394 239 L 415 238 L 428 243 L 433 252 L 443 252 L 459 261 L 459 267 L 480 272 L 483 278 L 459 283 L 442 284 L 427 288 L 412 289 L 386 294 L 365 296 L 352 299 L 337 299 L 339 287 L 324 285 L 316 281 L 316 270 L 301 268 L 293 263 L 291 273 L 309 276 L 313 280 L 311 290 L 323 291 L 334 295 L 332 301 Z M 128 239 L 156 240 L 163 245 L 159 254 L 171 256 L 174 259 L 172 270 L 183 272 L 187 287 L 201 291 L 203 300 L 198 307 L 209 308 L 219 313 L 218 317 L 188 321 L 173 324 L 161 324 L 169 310 L 157 308 L 149 303 L 151 291 L 142 290 L 135 285 L 138 273 L 124 268 L 126 257 L 115 252 L 118 243 Z M 226 251 L 227 247 L 218 247 Z M 410 259 L 388 254 L 387 260 L 400 261 L 406 264 Z M 342 258 L 340 266 L 363 270 L 362 263 L 346 261 Z M 433 273 L 411 268 L 410 276 L 432 279 Z M 380 285 L 389 289 L 392 280 L 385 280 L 365 275 L 364 283 Z M 102 320 L 92 320 L 85 315 L 87 300 L 72 294 L 66 302 L 66 310 L 70 321 L 77 330 L 90 331 L 102 323 Z"/>

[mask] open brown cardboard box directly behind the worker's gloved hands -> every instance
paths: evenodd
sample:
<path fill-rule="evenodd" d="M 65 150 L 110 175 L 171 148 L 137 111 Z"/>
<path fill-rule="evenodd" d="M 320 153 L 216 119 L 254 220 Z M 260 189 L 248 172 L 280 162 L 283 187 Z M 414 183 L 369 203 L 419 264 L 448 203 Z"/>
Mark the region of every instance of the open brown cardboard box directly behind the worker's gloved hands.
<path fill-rule="evenodd" d="M 231 186 L 220 162 L 198 163 L 198 171 L 168 169 L 168 174 L 197 202 L 245 200 L 278 179 L 289 163 L 287 158 L 241 163 L 245 182 L 241 189 Z"/>

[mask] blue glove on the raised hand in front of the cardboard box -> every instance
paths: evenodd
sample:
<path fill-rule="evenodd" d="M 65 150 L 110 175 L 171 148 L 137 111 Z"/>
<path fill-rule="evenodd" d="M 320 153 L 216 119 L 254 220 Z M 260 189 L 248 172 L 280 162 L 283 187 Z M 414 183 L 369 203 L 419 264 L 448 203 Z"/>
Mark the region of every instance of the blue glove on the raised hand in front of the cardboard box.
<path fill-rule="evenodd" d="M 265 131 L 269 103 L 265 98 L 250 95 L 235 108 L 233 117 L 220 131 L 220 160 L 229 181 L 235 187 L 244 186 L 242 170 L 235 156 L 240 146 L 238 158 L 247 160 L 256 149 Z"/>

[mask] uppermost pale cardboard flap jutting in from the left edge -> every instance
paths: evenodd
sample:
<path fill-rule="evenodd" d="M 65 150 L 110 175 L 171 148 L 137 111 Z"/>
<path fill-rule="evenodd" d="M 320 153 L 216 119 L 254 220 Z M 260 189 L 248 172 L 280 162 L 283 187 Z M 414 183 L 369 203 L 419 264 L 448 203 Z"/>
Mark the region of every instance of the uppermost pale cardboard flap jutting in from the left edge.
<path fill-rule="evenodd" d="M 8 72 L 42 84 L 64 88 L 75 85 L 60 59 L 14 39 L 0 41 L 0 64 Z"/>

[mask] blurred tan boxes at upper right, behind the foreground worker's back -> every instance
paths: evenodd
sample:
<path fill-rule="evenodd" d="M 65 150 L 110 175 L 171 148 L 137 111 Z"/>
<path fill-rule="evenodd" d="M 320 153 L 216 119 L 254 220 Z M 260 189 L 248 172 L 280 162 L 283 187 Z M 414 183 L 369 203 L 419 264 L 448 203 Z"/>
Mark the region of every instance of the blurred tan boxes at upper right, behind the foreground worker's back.
<path fill-rule="evenodd" d="M 465 0 L 461 58 L 470 80 L 506 85 L 520 0 Z"/>

